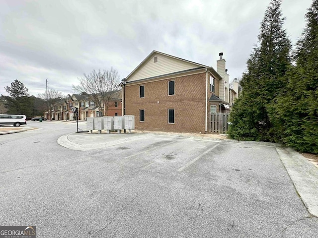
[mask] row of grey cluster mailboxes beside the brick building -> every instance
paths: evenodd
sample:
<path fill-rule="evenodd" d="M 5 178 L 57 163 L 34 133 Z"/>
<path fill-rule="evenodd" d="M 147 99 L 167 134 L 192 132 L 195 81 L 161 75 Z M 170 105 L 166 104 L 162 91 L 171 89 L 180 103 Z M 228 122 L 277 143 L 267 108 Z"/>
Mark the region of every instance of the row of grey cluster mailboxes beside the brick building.
<path fill-rule="evenodd" d="M 97 118 L 86 118 L 86 128 L 92 133 L 93 130 L 107 130 L 109 134 L 111 130 L 117 130 L 120 134 L 121 130 L 131 130 L 135 129 L 135 116 L 125 115 L 125 116 L 114 116 L 114 117 L 97 117 Z"/>

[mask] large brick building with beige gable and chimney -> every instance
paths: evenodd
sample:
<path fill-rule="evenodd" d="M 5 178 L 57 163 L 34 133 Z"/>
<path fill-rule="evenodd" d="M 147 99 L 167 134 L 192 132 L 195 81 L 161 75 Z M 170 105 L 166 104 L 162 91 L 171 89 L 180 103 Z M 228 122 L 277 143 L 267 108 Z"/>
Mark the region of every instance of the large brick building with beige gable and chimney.
<path fill-rule="evenodd" d="M 136 129 L 210 132 L 211 113 L 229 112 L 237 95 L 219 56 L 215 70 L 153 51 L 122 84 L 125 114 L 135 116 Z"/>

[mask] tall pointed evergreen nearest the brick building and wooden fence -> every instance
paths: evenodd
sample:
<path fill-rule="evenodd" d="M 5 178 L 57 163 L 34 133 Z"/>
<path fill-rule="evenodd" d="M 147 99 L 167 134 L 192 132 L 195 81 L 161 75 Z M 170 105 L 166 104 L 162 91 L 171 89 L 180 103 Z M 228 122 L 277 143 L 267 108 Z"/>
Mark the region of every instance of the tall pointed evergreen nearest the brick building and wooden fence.
<path fill-rule="evenodd" d="M 281 0 L 272 0 L 261 22 L 259 44 L 247 60 L 242 93 L 232 108 L 233 139 L 273 141 L 267 106 L 285 89 L 283 76 L 291 66 L 291 42 L 283 23 Z"/>

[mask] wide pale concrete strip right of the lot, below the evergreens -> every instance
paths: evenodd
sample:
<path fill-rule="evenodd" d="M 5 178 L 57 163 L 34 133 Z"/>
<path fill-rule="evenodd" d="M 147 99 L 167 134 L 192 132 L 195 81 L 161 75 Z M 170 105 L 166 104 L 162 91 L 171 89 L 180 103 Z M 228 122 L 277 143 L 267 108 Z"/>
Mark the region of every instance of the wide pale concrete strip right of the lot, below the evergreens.
<path fill-rule="evenodd" d="M 276 151 L 309 213 L 318 217 L 317 168 L 304 156 L 291 148 L 276 147 Z"/>

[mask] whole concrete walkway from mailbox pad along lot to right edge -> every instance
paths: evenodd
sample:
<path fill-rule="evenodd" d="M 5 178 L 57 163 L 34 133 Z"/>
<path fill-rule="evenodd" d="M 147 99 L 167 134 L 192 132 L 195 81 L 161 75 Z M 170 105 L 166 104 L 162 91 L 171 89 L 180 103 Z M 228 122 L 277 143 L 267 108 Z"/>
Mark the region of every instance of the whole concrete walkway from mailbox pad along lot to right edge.
<path fill-rule="evenodd" d="M 274 147 L 278 153 L 279 158 L 284 164 L 294 186 L 301 196 L 308 211 L 318 217 L 318 169 L 310 163 L 300 153 L 291 148 L 284 148 L 280 144 L 257 142 L 257 141 L 237 141 L 226 139 L 220 135 L 201 135 L 188 133 L 168 133 L 168 132 L 136 132 L 131 134 L 125 133 L 110 133 L 106 134 L 104 131 L 98 134 L 94 133 L 71 133 L 61 136 L 58 143 L 61 146 L 72 150 L 88 151 L 93 149 L 107 148 L 117 144 L 127 143 L 134 140 L 147 140 L 147 137 L 153 136 L 169 136 L 169 137 L 183 137 L 195 140 L 219 141 L 221 143 L 242 143 L 255 146 L 270 146 Z"/>

